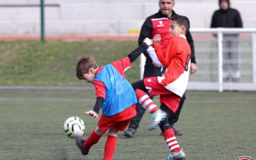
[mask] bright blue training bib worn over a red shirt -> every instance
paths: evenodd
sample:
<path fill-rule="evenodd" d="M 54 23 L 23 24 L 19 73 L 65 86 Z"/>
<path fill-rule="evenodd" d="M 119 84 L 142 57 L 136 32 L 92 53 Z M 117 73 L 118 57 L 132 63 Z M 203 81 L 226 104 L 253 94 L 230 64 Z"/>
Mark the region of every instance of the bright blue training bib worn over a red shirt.
<path fill-rule="evenodd" d="M 137 103 L 131 84 L 113 65 L 105 65 L 94 81 L 102 81 L 106 86 L 105 102 L 102 105 L 105 116 L 116 115 Z"/>

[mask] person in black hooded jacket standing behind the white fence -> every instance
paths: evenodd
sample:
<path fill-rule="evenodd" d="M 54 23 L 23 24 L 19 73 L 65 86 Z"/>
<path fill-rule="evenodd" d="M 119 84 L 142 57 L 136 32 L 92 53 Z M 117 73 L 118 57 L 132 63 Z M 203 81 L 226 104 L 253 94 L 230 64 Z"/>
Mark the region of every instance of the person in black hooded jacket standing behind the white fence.
<path fill-rule="evenodd" d="M 240 13 L 230 8 L 229 0 L 219 0 L 220 10 L 212 15 L 211 28 L 243 28 Z M 232 68 L 232 81 L 240 79 L 239 71 L 240 52 L 239 39 L 237 34 L 223 35 L 223 81 L 229 78 L 228 65 Z"/>

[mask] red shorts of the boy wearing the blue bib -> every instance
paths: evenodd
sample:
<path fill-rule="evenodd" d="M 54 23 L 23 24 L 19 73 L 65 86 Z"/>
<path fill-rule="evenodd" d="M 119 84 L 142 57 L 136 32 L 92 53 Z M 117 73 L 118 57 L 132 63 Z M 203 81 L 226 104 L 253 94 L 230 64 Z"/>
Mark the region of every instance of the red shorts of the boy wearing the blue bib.
<path fill-rule="evenodd" d="M 127 125 L 129 125 L 133 116 L 136 116 L 135 104 L 113 116 L 104 116 L 102 114 L 98 122 L 98 127 L 102 132 L 108 131 L 108 129 L 111 127 L 114 127 L 119 131 L 124 131 Z"/>

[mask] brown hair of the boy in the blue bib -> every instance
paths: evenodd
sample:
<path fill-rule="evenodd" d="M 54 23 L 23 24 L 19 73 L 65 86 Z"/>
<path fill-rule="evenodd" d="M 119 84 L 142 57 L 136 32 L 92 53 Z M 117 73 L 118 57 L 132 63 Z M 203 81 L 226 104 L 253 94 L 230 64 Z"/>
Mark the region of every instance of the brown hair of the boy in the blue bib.
<path fill-rule="evenodd" d="M 88 74 L 89 68 L 96 69 L 97 67 L 93 57 L 82 56 L 76 64 L 76 76 L 78 79 L 84 79 L 84 74 Z"/>

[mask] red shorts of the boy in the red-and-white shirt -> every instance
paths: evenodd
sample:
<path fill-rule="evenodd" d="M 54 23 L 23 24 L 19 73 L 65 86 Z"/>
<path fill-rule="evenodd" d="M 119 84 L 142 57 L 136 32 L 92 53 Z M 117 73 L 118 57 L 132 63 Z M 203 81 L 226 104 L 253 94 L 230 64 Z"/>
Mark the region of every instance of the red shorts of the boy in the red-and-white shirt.
<path fill-rule="evenodd" d="M 161 104 L 164 103 L 174 113 L 177 111 L 180 104 L 179 95 L 164 88 L 164 86 L 157 81 L 157 77 L 144 78 L 143 81 L 150 95 L 159 95 Z"/>

